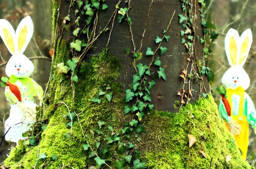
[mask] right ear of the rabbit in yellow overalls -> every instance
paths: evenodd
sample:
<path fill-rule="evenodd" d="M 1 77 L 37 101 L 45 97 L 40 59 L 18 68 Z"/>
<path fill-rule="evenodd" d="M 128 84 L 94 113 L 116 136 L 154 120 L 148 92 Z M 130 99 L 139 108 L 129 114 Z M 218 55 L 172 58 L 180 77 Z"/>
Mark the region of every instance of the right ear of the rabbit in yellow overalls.
<path fill-rule="evenodd" d="M 243 66 L 248 53 L 250 51 L 250 47 L 253 42 L 253 35 L 252 31 L 250 29 L 247 29 L 241 34 L 240 40 L 239 40 L 239 48 L 237 51 L 237 64 Z"/>

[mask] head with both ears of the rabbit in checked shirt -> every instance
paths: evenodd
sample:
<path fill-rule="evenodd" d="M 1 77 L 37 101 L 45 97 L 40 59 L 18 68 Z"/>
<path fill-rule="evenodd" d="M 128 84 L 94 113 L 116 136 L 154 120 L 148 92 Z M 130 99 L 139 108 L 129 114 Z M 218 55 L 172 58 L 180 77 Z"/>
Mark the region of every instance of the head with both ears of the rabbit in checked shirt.
<path fill-rule="evenodd" d="M 23 55 L 32 38 L 33 30 L 33 22 L 29 16 L 21 20 L 16 32 L 7 20 L 0 20 L 0 36 L 12 54 L 6 65 L 7 76 L 29 77 L 33 73 L 33 63 Z"/>

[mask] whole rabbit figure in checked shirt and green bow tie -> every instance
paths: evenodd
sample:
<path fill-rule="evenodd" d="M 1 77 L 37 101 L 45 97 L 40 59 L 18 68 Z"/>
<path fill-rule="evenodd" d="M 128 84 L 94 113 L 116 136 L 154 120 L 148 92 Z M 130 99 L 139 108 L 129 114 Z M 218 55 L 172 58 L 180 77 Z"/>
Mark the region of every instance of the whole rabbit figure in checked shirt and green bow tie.
<path fill-rule="evenodd" d="M 31 17 L 21 20 L 16 32 L 7 20 L 0 20 L 0 36 L 3 39 L 12 57 L 6 65 L 6 75 L 10 78 L 6 83 L 5 95 L 11 104 L 9 118 L 5 121 L 6 141 L 18 142 L 23 140 L 22 134 L 27 131 L 28 124 L 33 124 L 35 119 L 21 108 L 32 107 L 36 112 L 34 96 L 43 99 L 43 89 L 33 79 L 29 78 L 34 71 L 33 63 L 23 55 L 30 39 L 34 26 Z"/>

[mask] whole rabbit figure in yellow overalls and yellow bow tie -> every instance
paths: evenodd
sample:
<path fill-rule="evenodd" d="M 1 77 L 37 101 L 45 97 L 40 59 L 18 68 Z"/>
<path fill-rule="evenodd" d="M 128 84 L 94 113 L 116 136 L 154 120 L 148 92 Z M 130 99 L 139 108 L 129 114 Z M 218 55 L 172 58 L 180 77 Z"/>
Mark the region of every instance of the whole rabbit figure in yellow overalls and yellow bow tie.
<path fill-rule="evenodd" d="M 244 159 L 249 141 L 248 124 L 251 124 L 253 129 L 256 128 L 256 110 L 252 99 L 244 92 L 250 86 L 250 78 L 242 67 L 247 59 L 252 41 L 253 36 L 250 29 L 244 31 L 241 37 L 235 29 L 231 28 L 227 32 L 225 50 L 231 68 L 224 73 L 221 79 L 227 90 L 227 99 L 222 96 L 219 105 L 221 117 L 225 119 L 227 129 L 233 133 Z M 233 125 L 230 125 L 232 123 Z"/>

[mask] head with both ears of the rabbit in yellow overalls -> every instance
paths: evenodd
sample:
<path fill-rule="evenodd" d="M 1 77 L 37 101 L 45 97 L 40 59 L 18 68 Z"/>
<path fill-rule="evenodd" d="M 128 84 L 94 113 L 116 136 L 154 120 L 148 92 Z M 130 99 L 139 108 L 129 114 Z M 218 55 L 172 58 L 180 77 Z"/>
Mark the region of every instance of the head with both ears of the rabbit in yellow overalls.
<path fill-rule="evenodd" d="M 245 72 L 243 65 L 247 59 L 251 44 L 252 32 L 247 29 L 239 37 L 235 29 L 230 29 L 225 38 L 225 51 L 227 54 L 229 68 L 223 75 L 221 82 L 226 89 L 236 89 L 241 86 L 246 90 L 250 86 L 250 78 Z"/>

